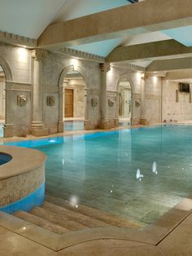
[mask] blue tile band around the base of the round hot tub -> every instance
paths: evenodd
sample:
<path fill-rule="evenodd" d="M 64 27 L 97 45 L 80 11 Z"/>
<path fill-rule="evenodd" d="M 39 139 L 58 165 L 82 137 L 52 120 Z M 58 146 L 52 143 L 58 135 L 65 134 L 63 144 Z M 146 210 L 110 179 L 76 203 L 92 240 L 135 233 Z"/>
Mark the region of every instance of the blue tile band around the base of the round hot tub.
<path fill-rule="evenodd" d="M 37 188 L 36 191 L 25 196 L 19 201 L 15 201 L 10 205 L 3 206 L 0 210 L 6 212 L 7 214 L 13 214 L 17 210 L 29 211 L 35 206 L 40 206 L 45 200 L 45 183 L 41 184 L 40 188 Z"/>

